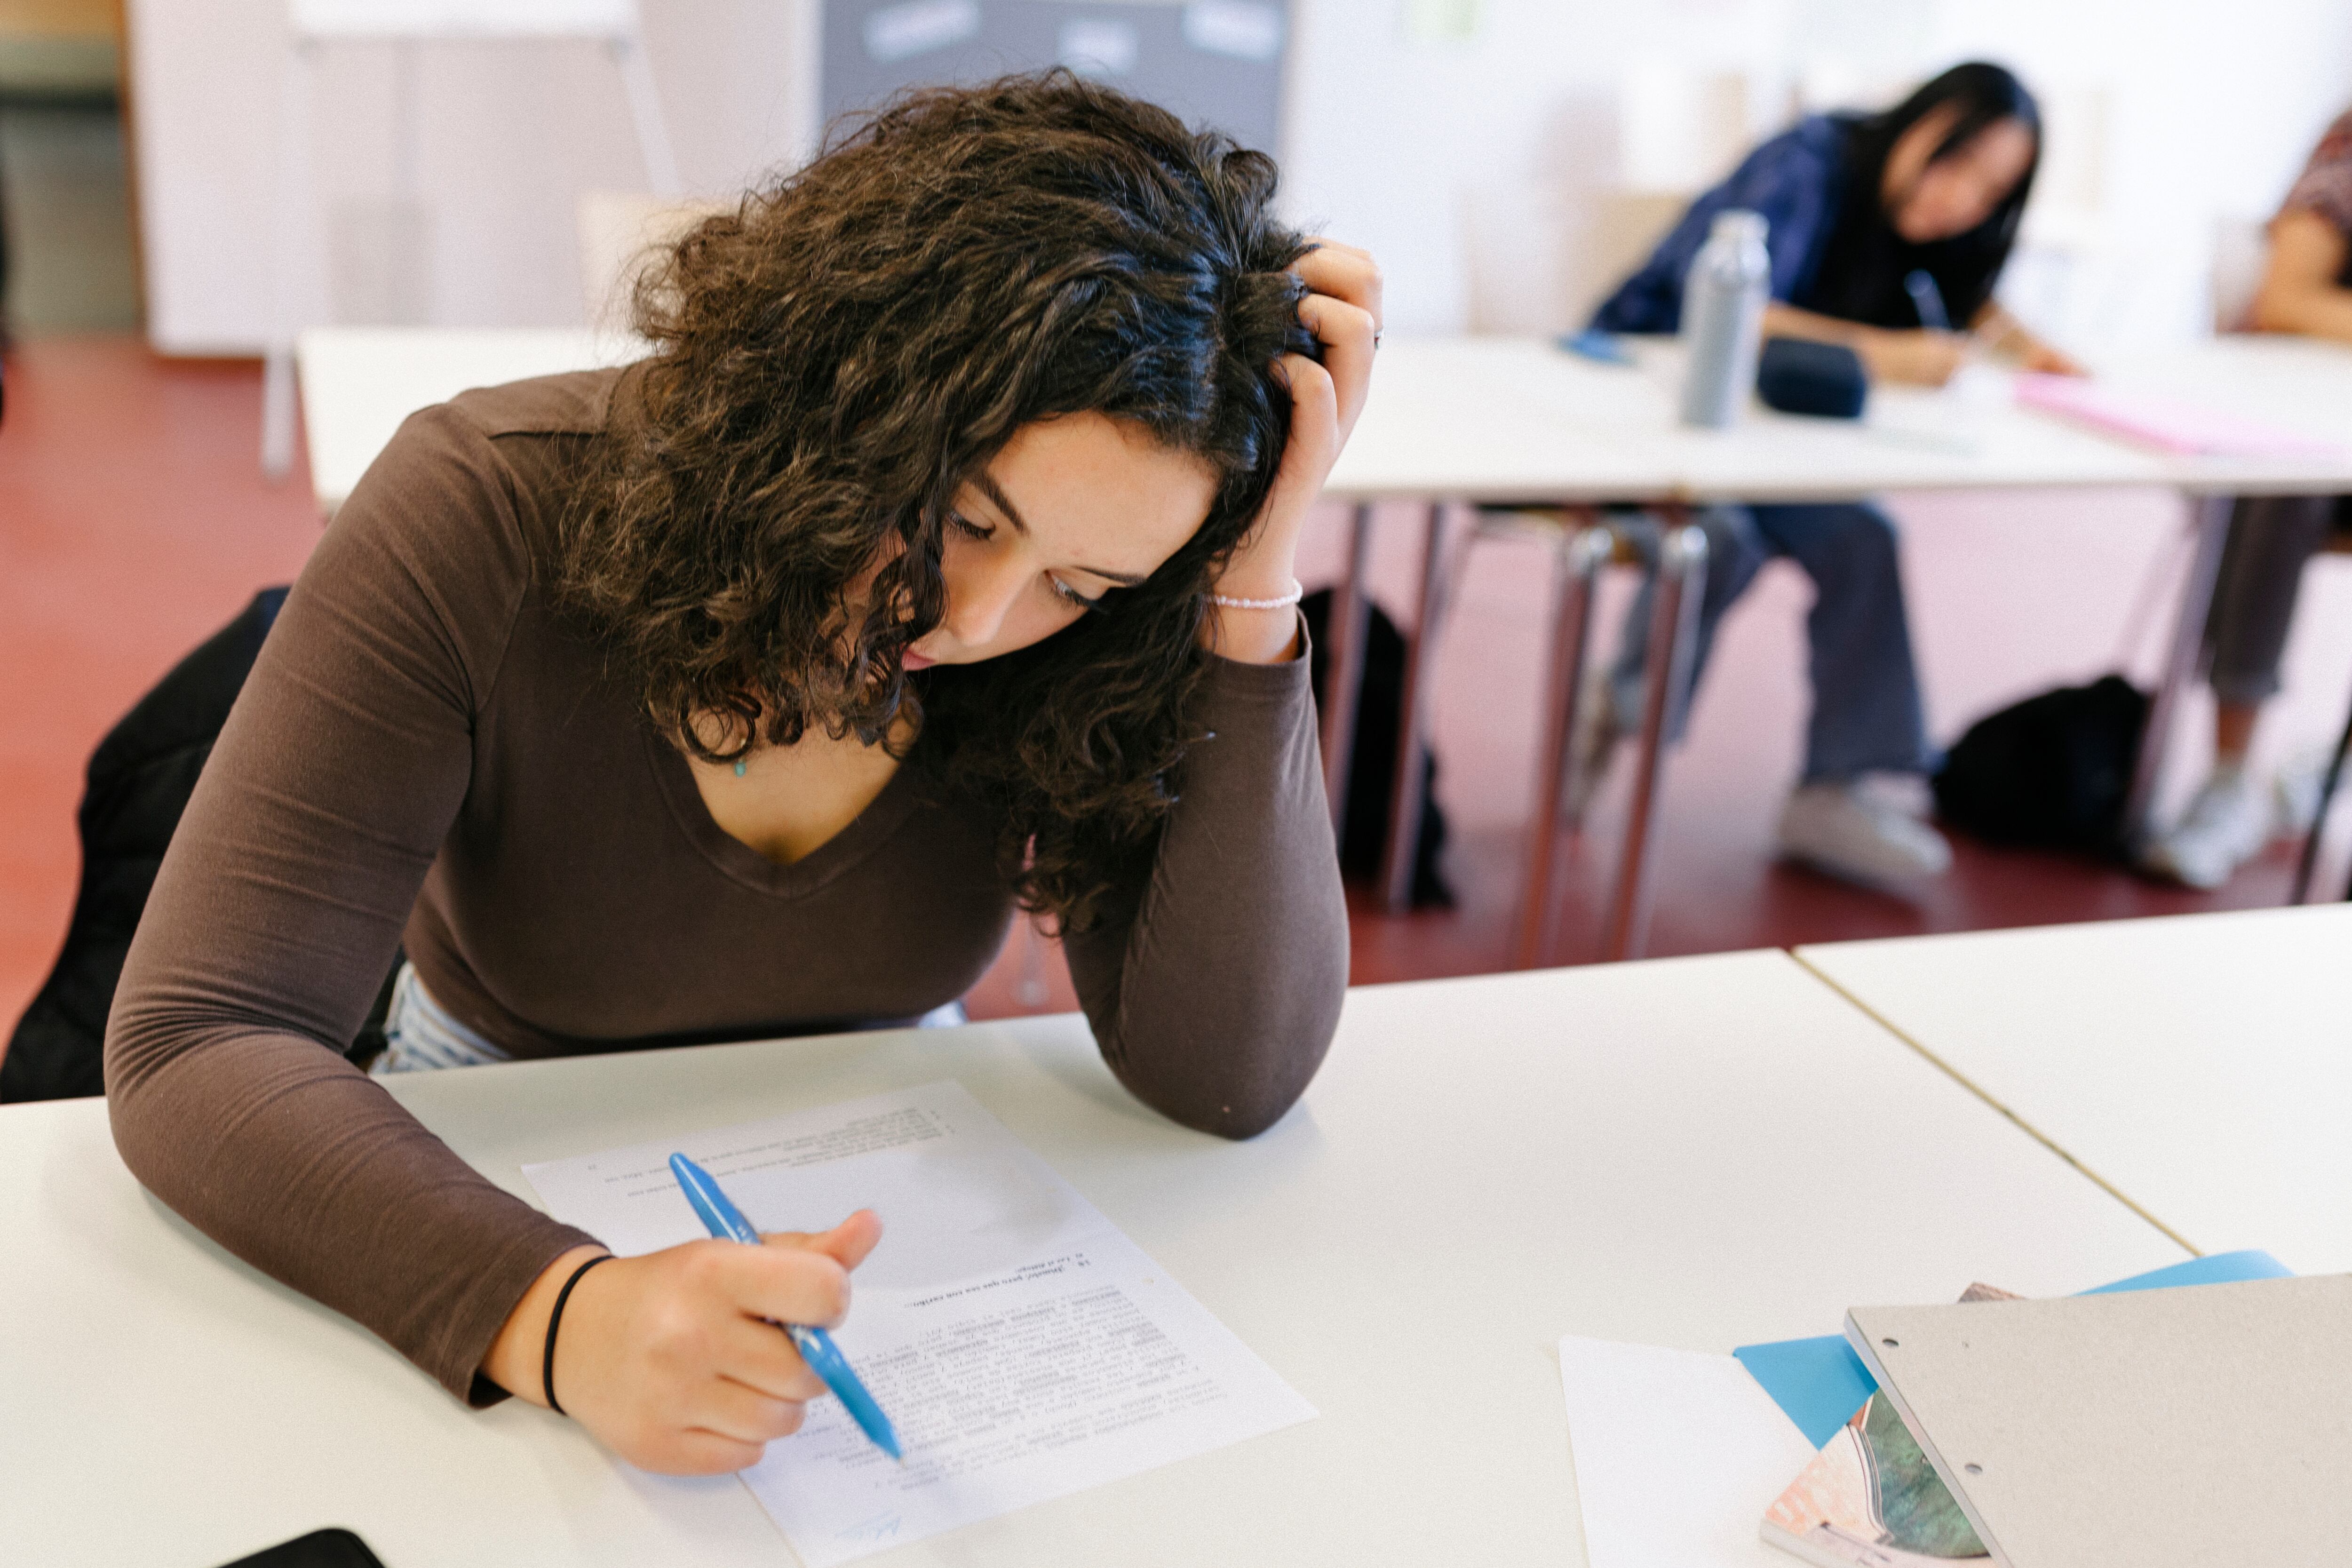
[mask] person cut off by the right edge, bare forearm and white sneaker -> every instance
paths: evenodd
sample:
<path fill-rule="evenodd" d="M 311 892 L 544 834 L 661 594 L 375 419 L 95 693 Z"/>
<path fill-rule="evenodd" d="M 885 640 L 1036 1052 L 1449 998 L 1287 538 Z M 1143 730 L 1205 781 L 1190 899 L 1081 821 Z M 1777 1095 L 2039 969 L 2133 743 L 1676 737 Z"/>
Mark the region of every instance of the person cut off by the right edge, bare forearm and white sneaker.
<path fill-rule="evenodd" d="M 2319 139 L 2270 223 L 2270 266 L 2246 327 L 2352 343 L 2352 113 Z M 2147 844 L 2147 870 L 2216 889 L 2314 809 L 2307 792 L 2296 799 L 2288 780 L 2265 788 L 2246 755 L 2263 703 L 2279 693 L 2303 564 L 2343 529 L 2352 529 L 2352 496 L 2246 496 L 2230 512 L 2206 618 L 2213 773 L 2180 820 Z"/>

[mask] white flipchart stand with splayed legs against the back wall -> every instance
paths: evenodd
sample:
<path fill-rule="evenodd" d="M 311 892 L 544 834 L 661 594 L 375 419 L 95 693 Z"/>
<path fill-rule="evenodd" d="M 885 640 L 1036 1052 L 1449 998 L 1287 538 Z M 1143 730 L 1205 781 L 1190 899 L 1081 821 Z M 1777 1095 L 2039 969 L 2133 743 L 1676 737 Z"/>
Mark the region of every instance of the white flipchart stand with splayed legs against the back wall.
<path fill-rule="evenodd" d="M 621 73 L 637 148 L 659 197 L 677 200 L 677 158 L 661 118 L 661 96 L 644 61 L 637 0 L 289 0 L 287 61 L 278 99 L 278 216 L 273 233 L 273 315 L 261 378 L 261 473 L 282 477 L 294 465 L 294 339 L 303 322 L 296 284 L 310 252 L 310 66 L 325 45 L 557 40 L 602 42 Z M 414 73 L 402 73 L 414 94 Z M 414 134 L 414 103 L 400 118 Z M 414 158 L 407 160 L 414 165 Z"/>

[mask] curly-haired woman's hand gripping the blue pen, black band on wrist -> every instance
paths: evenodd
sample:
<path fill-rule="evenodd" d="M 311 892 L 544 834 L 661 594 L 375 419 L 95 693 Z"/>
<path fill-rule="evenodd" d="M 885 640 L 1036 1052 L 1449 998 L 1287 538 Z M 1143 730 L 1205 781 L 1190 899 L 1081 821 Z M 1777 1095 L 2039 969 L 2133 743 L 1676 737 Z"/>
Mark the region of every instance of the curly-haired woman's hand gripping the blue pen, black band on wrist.
<path fill-rule="evenodd" d="M 640 1469 L 743 1469 L 797 1432 L 804 1406 L 826 1392 L 776 1324 L 837 1326 L 849 1312 L 849 1269 L 880 1239 L 882 1222 L 861 1208 L 821 1237 L 687 1241 L 602 1262 L 564 1302 L 555 1399 Z M 595 1251 L 564 1253 L 532 1284 L 482 1361 L 492 1382 L 546 1403 L 548 1314 Z"/>

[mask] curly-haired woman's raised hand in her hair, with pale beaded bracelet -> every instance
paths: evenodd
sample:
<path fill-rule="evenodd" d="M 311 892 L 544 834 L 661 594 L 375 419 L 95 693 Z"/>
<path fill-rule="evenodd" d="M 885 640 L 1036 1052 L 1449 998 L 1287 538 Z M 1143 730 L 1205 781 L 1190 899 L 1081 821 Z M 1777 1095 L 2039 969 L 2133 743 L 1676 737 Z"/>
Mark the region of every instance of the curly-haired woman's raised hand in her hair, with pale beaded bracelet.
<path fill-rule="evenodd" d="M 1381 341 L 1381 268 L 1371 254 L 1317 240 L 1291 270 L 1308 284 L 1298 320 L 1322 343 L 1324 357 L 1322 364 L 1305 355 L 1275 362 L 1291 393 L 1291 440 L 1265 510 L 1216 581 L 1216 592 L 1232 599 L 1279 599 L 1298 581 L 1298 534 L 1364 411 L 1371 355 Z M 1296 628 L 1289 609 L 1216 609 L 1204 637 L 1225 658 L 1279 663 L 1296 651 Z"/>

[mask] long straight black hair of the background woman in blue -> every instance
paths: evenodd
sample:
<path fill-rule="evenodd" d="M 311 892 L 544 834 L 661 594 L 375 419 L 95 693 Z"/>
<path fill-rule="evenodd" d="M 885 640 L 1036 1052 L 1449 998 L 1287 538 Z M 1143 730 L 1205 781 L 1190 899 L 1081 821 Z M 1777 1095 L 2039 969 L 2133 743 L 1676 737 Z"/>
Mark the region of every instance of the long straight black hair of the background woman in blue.
<path fill-rule="evenodd" d="M 1929 162 L 1957 153 L 1978 132 L 2016 120 L 2034 136 L 2034 160 L 1983 223 L 1950 240 L 1912 244 L 1886 221 L 1886 155 L 1910 127 L 1950 106 L 1955 118 Z M 1952 66 L 1893 108 L 1860 118 L 1846 132 L 1846 190 L 1837 205 L 1837 228 L 1813 277 L 1809 310 L 1870 327 L 1922 327 L 1919 306 L 1903 280 L 1924 268 L 1943 294 L 1955 324 L 1976 320 L 1992 299 L 2009 249 L 2018 240 L 2025 197 L 2042 165 L 2042 110 L 2025 82 L 1985 61 Z"/>

